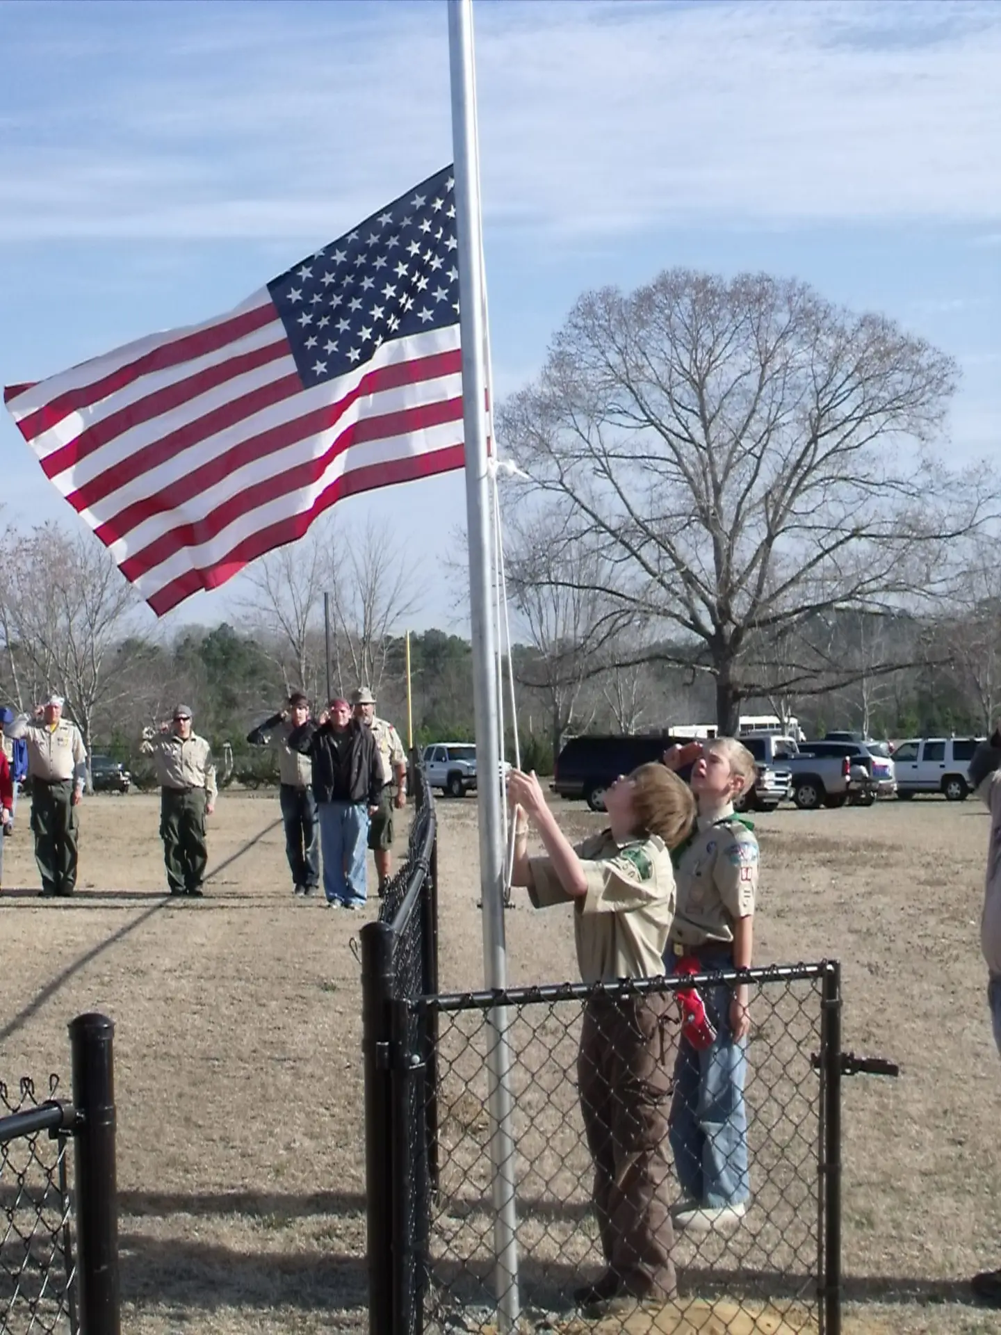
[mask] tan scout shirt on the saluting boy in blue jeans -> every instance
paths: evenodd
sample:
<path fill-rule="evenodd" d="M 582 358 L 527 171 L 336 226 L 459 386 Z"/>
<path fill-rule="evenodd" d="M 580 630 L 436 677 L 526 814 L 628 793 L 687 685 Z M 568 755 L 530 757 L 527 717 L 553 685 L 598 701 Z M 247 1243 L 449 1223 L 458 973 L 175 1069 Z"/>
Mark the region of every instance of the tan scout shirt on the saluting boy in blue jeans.
<path fill-rule="evenodd" d="M 733 943 L 737 918 L 750 917 L 758 892 L 758 841 L 733 809 L 698 818 L 695 837 L 677 868 L 678 912 L 671 941 Z"/>

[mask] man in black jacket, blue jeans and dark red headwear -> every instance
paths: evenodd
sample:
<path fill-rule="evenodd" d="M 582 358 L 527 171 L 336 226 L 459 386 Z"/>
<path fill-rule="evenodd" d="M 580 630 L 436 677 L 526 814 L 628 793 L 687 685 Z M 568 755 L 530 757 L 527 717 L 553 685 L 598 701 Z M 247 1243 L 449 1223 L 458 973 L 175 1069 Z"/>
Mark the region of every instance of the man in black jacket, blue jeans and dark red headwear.
<path fill-rule="evenodd" d="M 382 793 L 375 738 L 351 718 L 346 700 L 332 700 L 315 722 L 308 720 L 295 728 L 286 745 L 312 761 L 327 905 L 358 909 L 367 897 L 368 821 L 379 809 Z"/>

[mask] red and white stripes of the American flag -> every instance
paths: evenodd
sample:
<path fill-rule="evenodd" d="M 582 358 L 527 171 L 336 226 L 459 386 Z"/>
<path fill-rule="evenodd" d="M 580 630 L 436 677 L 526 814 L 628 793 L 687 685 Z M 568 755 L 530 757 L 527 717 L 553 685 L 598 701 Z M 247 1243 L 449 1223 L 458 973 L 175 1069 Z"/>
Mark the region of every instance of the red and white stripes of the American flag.
<path fill-rule="evenodd" d="M 303 388 L 267 290 L 4 399 L 157 615 L 300 538 L 340 497 L 463 466 L 458 324 Z"/>

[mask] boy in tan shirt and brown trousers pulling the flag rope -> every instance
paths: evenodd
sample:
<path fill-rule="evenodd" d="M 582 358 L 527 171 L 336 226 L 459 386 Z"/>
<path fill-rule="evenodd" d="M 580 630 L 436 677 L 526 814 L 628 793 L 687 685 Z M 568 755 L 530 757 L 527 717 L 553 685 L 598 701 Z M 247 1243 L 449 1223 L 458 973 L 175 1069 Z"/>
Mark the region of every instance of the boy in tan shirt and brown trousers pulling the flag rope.
<path fill-rule="evenodd" d="M 641 765 L 609 789 L 610 828 L 574 848 L 557 825 L 538 778 L 513 770 L 513 884 L 533 904 L 573 901 L 585 983 L 655 977 L 674 916 L 670 850 L 691 829 L 695 804 L 662 765 Z M 521 810 L 519 810 L 521 808 Z M 527 856 L 527 821 L 546 857 Z M 578 1053 L 578 1089 L 594 1160 L 594 1207 L 606 1270 L 574 1300 L 599 1312 L 675 1292 L 667 1101 L 677 1025 L 673 996 L 590 997 Z"/>

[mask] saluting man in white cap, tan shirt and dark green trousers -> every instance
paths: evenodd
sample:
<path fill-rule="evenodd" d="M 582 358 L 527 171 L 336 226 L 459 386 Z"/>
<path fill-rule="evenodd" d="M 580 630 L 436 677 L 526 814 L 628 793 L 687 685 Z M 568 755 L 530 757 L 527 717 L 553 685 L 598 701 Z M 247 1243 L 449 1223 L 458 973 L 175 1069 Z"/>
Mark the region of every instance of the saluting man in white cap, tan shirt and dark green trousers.
<path fill-rule="evenodd" d="M 19 714 L 4 726 L 12 741 L 28 744 L 31 828 L 41 893 L 68 896 L 76 886 L 77 808 L 87 782 L 87 750 L 76 724 L 63 718 L 63 697 L 49 696 L 35 717 Z"/>

